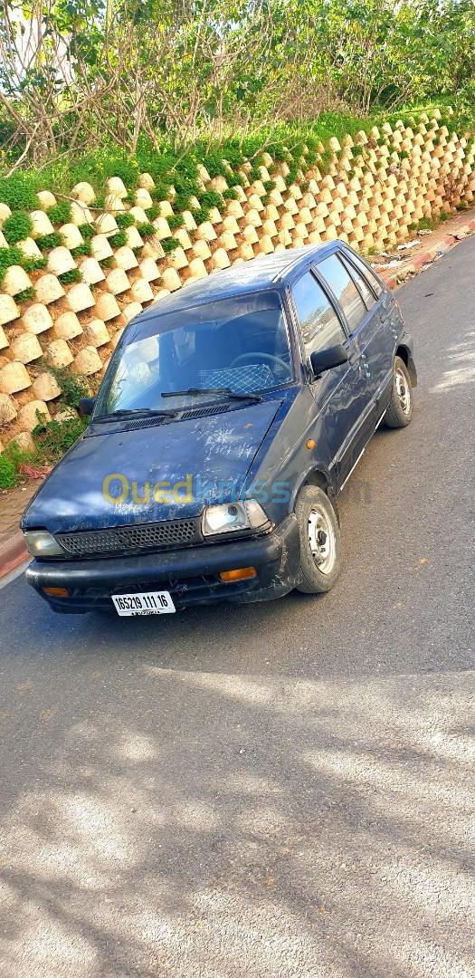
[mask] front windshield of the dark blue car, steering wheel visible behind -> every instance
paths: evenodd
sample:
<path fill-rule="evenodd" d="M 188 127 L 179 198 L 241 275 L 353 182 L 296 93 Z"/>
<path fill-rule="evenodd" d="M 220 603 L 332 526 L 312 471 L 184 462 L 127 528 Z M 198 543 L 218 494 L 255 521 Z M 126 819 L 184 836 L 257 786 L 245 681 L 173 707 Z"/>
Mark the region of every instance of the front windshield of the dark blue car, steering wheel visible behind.
<path fill-rule="evenodd" d="M 176 411 L 293 378 L 278 292 L 238 295 L 139 321 L 110 361 L 94 417 Z"/>

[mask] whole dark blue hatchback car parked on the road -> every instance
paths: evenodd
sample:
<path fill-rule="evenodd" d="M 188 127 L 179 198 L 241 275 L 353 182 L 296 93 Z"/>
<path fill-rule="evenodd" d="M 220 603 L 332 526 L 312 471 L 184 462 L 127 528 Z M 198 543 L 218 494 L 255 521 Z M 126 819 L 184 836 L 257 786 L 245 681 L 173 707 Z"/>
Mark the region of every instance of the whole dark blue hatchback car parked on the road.
<path fill-rule="evenodd" d="M 55 611 L 321 594 L 336 499 L 416 372 L 399 306 L 342 242 L 235 265 L 131 321 L 90 423 L 22 518 Z"/>

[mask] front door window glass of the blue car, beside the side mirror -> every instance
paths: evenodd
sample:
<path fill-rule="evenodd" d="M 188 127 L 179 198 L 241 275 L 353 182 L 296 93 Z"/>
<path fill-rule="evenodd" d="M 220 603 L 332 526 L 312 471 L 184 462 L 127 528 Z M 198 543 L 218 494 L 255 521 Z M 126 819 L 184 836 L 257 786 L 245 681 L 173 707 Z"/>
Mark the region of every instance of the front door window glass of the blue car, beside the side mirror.
<path fill-rule="evenodd" d="M 315 350 L 345 342 L 346 335 L 335 310 L 312 272 L 306 272 L 298 280 L 292 296 L 308 357 Z"/>

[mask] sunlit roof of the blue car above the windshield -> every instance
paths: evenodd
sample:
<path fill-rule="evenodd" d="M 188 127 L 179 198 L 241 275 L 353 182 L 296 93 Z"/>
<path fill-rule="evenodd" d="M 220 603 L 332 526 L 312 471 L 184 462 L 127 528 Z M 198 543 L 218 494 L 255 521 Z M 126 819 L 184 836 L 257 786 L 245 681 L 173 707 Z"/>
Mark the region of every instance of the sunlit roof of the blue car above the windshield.
<path fill-rule="evenodd" d="M 296 271 L 309 267 L 317 256 L 323 257 L 326 251 L 334 250 L 335 244 L 339 243 L 304 244 L 302 247 L 288 248 L 262 258 L 251 258 L 233 265 L 232 268 L 213 272 L 189 286 L 185 283 L 182 289 L 159 299 L 131 322 L 137 325 L 202 302 L 231 298 L 246 292 L 285 288 Z"/>

